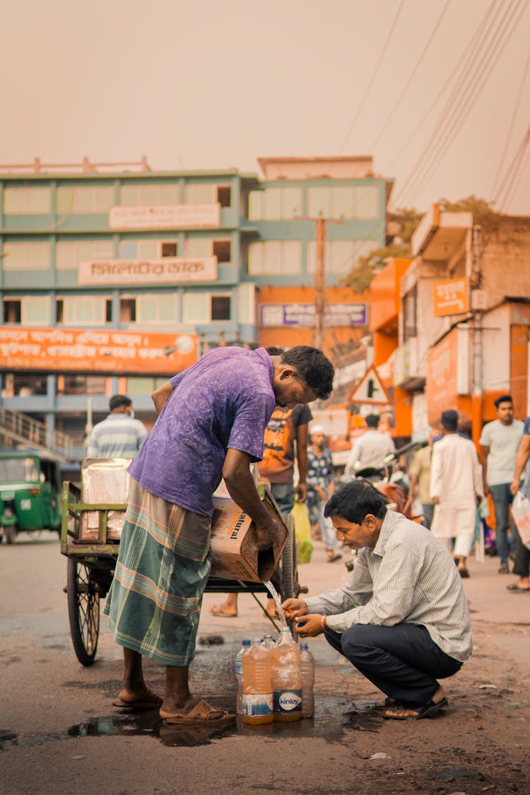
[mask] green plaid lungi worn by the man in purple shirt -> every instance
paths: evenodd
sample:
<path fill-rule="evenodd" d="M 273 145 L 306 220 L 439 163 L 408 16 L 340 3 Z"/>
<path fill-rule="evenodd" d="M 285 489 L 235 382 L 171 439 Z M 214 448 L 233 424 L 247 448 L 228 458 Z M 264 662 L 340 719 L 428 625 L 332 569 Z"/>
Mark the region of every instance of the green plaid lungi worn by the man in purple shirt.
<path fill-rule="evenodd" d="M 195 656 L 211 568 L 211 520 L 130 480 L 114 580 L 104 612 L 120 646 L 164 665 Z"/>

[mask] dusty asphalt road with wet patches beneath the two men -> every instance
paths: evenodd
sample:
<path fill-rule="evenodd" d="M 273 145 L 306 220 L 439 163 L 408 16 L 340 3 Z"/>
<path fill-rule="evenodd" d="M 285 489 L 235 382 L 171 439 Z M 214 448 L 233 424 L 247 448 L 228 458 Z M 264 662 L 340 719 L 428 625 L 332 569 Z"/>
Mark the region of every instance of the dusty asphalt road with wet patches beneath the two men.
<path fill-rule="evenodd" d="M 385 721 L 379 694 L 315 639 L 315 719 L 246 727 L 166 727 L 157 713 L 112 707 L 122 652 L 102 620 L 95 665 L 72 650 L 66 560 L 56 534 L 0 546 L 0 791 L 11 793 L 511 793 L 530 791 L 530 595 L 509 595 L 497 562 L 470 561 L 465 583 L 475 655 L 447 681 L 445 715 Z M 342 562 L 315 549 L 300 579 L 311 593 L 345 580 Z M 234 708 L 234 656 L 271 629 L 250 596 L 237 619 L 210 614 L 206 594 L 192 665 L 195 692 Z M 164 669 L 147 661 L 161 691 Z"/>

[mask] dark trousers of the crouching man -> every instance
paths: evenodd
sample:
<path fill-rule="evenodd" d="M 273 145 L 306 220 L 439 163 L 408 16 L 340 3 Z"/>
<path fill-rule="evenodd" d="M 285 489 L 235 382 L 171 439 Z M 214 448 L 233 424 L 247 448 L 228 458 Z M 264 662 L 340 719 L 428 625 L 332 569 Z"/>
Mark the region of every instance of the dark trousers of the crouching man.
<path fill-rule="evenodd" d="M 452 677 L 462 663 L 431 640 L 424 626 L 357 624 L 339 634 L 326 630 L 326 640 L 350 660 L 366 679 L 390 698 L 410 707 L 427 704 L 438 679 Z"/>

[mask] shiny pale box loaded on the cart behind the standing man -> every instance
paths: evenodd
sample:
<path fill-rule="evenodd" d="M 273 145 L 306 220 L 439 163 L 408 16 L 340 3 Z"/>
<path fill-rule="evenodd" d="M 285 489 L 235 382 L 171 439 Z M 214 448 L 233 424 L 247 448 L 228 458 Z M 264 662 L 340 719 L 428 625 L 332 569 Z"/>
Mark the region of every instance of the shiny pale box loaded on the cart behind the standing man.
<path fill-rule="evenodd" d="M 105 505 L 129 502 L 130 458 L 87 458 L 81 467 L 81 502 Z M 106 519 L 106 538 L 119 541 L 125 510 L 110 510 Z M 98 541 L 99 510 L 83 510 L 79 521 L 79 541 Z"/>

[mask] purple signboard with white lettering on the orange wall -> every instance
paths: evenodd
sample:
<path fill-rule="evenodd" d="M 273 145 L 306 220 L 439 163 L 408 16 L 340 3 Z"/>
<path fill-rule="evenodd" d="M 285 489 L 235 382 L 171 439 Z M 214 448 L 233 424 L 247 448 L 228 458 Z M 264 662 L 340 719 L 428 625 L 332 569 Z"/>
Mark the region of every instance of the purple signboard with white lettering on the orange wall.
<path fill-rule="evenodd" d="M 366 304 L 326 304 L 326 326 L 366 326 L 367 322 Z M 315 304 L 261 304 L 260 324 L 312 328 L 315 326 Z"/>

